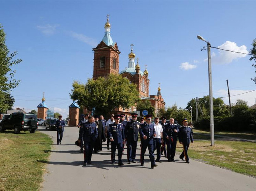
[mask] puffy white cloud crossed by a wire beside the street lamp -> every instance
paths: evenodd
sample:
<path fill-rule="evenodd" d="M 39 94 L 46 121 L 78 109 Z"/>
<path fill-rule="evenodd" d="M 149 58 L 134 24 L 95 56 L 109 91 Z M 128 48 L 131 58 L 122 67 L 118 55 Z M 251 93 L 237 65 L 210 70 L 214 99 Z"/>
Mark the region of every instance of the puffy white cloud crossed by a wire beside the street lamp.
<path fill-rule="evenodd" d="M 235 52 L 242 52 L 242 53 L 248 53 L 247 47 L 245 45 L 237 46 L 235 42 L 226 41 L 224 44 L 218 46 L 220 49 L 235 51 Z M 213 50 L 213 49 L 211 49 Z M 218 55 L 216 55 L 214 52 L 212 53 L 212 63 L 216 64 L 228 64 L 231 63 L 233 60 L 243 58 L 246 56 L 246 54 L 241 53 L 235 53 L 230 51 L 224 51 L 224 50 L 218 50 Z M 204 61 L 207 61 L 205 59 Z"/>

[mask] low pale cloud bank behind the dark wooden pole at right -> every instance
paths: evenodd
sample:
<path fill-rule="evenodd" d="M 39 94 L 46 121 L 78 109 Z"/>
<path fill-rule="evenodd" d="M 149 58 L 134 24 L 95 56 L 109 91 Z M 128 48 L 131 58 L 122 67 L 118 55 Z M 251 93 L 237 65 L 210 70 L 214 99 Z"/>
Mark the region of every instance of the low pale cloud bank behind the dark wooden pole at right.
<path fill-rule="evenodd" d="M 256 91 L 252 91 L 252 92 L 249 92 L 249 91 L 252 91 L 252 90 L 229 90 L 231 103 L 235 104 L 237 99 L 242 99 L 244 101 L 247 101 L 248 106 L 254 105 L 255 98 L 256 98 Z M 248 93 L 246 93 L 246 92 L 248 92 Z M 242 94 L 242 93 L 245 93 L 245 94 Z M 214 97 L 225 97 L 222 99 L 225 102 L 225 104 L 229 105 L 229 98 L 227 97 L 228 90 L 220 89 L 220 90 L 214 92 L 214 94 L 215 94 Z M 237 95 L 237 94 L 241 94 L 241 95 Z M 236 95 L 236 96 L 232 96 L 232 95 Z"/>

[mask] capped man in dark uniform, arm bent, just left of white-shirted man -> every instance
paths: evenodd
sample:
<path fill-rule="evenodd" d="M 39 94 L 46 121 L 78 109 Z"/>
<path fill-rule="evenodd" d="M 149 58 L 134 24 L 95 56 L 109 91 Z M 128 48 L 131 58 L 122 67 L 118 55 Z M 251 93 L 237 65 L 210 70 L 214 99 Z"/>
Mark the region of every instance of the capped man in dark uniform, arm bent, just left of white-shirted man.
<path fill-rule="evenodd" d="M 146 115 L 146 122 L 140 125 L 139 133 L 141 137 L 141 152 L 140 152 L 140 163 L 141 166 L 144 166 L 144 154 L 148 147 L 149 150 L 149 158 L 151 162 L 151 168 L 156 167 L 155 164 L 155 156 L 154 156 L 154 141 L 153 136 L 156 136 L 154 125 L 150 123 L 152 115 Z"/>

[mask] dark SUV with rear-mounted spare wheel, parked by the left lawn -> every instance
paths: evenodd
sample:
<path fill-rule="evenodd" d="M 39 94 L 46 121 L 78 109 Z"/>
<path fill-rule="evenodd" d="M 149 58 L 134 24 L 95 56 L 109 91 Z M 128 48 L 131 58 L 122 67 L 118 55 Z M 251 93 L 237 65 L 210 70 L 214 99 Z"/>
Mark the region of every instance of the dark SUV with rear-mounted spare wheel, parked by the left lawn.
<path fill-rule="evenodd" d="M 35 133 L 38 129 L 37 117 L 30 113 L 12 113 L 7 119 L 0 122 L 0 131 L 5 129 L 14 129 L 14 133 L 29 130 L 30 133 Z"/>

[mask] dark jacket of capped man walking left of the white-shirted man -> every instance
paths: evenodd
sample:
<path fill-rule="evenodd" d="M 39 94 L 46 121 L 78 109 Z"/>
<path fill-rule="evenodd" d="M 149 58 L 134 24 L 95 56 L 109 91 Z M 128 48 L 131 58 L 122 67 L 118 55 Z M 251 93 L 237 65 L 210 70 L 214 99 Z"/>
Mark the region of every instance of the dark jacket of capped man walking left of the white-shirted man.
<path fill-rule="evenodd" d="M 149 144 L 153 144 L 153 134 L 155 134 L 154 124 L 147 124 L 146 122 L 140 125 L 139 133 L 141 137 L 141 143 L 148 141 Z M 144 140 L 143 136 L 146 135 L 147 139 Z"/>

